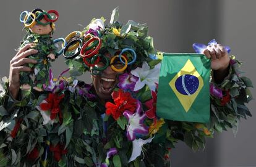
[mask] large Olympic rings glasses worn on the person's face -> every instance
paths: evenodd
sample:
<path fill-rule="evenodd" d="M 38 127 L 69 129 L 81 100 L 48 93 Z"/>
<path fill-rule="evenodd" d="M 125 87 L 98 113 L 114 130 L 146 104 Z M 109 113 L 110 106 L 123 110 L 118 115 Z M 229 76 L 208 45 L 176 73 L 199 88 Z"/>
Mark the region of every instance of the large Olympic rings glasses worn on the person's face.
<path fill-rule="evenodd" d="M 74 59 L 80 55 L 83 63 L 89 68 L 92 67 L 92 75 L 100 75 L 101 71 L 109 66 L 117 73 L 122 73 L 128 65 L 131 65 L 137 59 L 137 54 L 133 49 L 124 48 L 121 52 L 119 51 L 120 54 L 114 55 L 109 60 L 109 57 L 102 53 L 103 50 L 100 52 L 101 38 L 92 34 L 74 31 L 67 35 L 65 40 L 67 45 L 64 47 L 64 57 Z"/>

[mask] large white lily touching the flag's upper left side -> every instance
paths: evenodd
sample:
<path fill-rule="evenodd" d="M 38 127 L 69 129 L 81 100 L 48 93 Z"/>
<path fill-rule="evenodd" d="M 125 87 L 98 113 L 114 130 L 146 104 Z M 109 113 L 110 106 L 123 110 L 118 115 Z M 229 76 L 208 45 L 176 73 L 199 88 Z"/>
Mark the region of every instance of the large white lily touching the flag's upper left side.
<path fill-rule="evenodd" d="M 153 69 L 150 69 L 147 62 L 143 62 L 142 68 L 137 67 L 135 70 L 132 70 L 130 73 L 139 77 L 139 80 L 135 84 L 134 91 L 142 89 L 145 84 L 148 85 L 151 91 L 155 91 L 156 84 L 158 84 L 160 67 L 161 63 L 158 63 Z"/>

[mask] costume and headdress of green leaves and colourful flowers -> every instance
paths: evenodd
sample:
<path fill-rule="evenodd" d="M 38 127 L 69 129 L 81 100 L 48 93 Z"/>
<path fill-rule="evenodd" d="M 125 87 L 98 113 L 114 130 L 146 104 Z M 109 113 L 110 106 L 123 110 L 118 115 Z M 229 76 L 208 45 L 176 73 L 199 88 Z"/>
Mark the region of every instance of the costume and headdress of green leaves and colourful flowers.
<path fill-rule="evenodd" d="M 108 30 L 103 19 L 94 19 L 87 26 L 87 33 L 93 35 L 111 31 L 111 35 L 101 36 L 108 52 L 114 52 L 113 43 L 127 36 L 134 41 L 142 36 L 151 41 L 147 33 L 143 34 L 145 26 L 140 29 L 139 24 L 129 22 L 135 29 L 124 28 L 126 25 L 121 26 L 116 15 L 114 9 Z M 100 27 L 100 31 L 95 27 Z M 118 40 L 108 41 L 109 38 Z M 223 83 L 211 81 L 210 124 L 158 118 L 155 104 L 161 53 L 150 55 L 153 43 L 145 49 L 140 42 L 129 43 L 141 55 L 119 76 L 113 102 L 105 106 L 95 98 L 90 85 L 62 76 L 67 71 L 83 72 L 82 58 L 68 60 L 70 70 L 63 71 L 57 79 L 50 70 L 49 84 L 43 86 L 45 92 L 33 94 L 35 97 L 25 96 L 20 101 L 11 98 L 9 81 L 3 78 L 0 166 L 169 166 L 169 154 L 176 142 L 183 141 L 193 150 L 203 149 L 205 137 L 213 137 L 215 131 L 227 128 L 236 134 L 239 118 L 251 116 L 244 103 L 252 99 L 249 91 L 252 83 L 240 76 L 241 62 L 232 57 L 229 75 Z M 26 93 L 30 94 L 22 92 Z"/>

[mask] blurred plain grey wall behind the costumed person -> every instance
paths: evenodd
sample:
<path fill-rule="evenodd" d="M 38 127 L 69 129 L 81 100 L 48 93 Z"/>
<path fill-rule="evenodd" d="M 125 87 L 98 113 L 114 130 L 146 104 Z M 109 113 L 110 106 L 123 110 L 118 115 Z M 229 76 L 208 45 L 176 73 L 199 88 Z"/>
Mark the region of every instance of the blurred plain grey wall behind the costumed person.
<path fill-rule="evenodd" d="M 36 7 L 59 12 L 53 38 L 66 37 L 71 31 L 82 30 L 93 17 L 106 18 L 109 22 L 112 10 L 119 6 L 119 20 L 147 23 L 155 48 L 162 52 L 194 52 L 193 43 L 207 44 L 211 39 L 231 47 L 231 54 L 244 61 L 242 70 L 256 83 L 256 1 L 255 0 L 62 0 L 62 1 L 1 1 L 0 76 L 9 75 L 9 62 L 25 35 L 19 15 L 23 10 Z M 81 26 L 82 25 L 82 26 Z M 60 57 L 52 63 L 54 75 L 66 69 Z M 82 79 L 90 83 L 90 76 Z M 252 89 L 255 95 L 255 89 Z M 248 107 L 254 115 L 256 102 Z M 201 152 L 192 152 L 179 143 L 172 150 L 172 166 L 256 166 L 256 116 L 241 120 L 237 136 L 233 132 L 215 134 L 207 140 Z"/>

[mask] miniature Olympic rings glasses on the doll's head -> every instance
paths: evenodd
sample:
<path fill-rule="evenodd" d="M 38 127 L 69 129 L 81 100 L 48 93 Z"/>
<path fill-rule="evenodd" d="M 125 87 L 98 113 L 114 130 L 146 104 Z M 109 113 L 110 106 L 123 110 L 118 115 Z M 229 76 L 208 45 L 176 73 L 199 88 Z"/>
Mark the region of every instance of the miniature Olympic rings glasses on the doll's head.
<path fill-rule="evenodd" d="M 45 18 L 46 23 L 40 22 L 43 18 Z M 20 14 L 20 22 L 22 22 L 27 28 L 32 28 L 36 23 L 40 25 L 48 25 L 49 23 L 56 22 L 58 18 L 59 13 L 56 10 L 49 10 L 48 12 L 41 10 L 33 10 L 33 12 L 23 11 Z"/>

